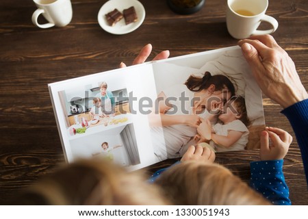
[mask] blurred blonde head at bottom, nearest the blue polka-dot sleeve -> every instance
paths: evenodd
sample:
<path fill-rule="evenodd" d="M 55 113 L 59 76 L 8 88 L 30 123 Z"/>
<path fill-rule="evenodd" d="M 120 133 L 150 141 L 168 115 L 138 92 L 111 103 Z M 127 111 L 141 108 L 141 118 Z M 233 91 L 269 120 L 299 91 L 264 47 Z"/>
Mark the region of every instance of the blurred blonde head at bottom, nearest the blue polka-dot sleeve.
<path fill-rule="evenodd" d="M 270 205 L 219 164 L 183 162 L 156 181 L 175 205 Z"/>

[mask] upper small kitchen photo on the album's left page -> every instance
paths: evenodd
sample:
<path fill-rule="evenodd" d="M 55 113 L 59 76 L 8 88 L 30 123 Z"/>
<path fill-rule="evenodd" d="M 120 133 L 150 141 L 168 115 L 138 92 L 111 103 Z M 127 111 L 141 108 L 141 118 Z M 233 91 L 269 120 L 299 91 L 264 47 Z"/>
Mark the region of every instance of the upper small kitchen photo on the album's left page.
<path fill-rule="evenodd" d="M 107 127 L 129 120 L 127 89 L 112 81 L 62 90 L 59 97 L 71 136 L 86 133 L 95 126 Z"/>

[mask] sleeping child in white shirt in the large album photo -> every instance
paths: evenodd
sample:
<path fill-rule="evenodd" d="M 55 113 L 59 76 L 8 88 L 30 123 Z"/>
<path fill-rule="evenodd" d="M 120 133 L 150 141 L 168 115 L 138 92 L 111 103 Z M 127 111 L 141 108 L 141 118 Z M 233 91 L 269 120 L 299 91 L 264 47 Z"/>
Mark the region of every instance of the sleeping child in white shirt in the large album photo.
<path fill-rule="evenodd" d="M 222 107 L 218 116 L 219 122 L 211 125 L 209 120 L 202 120 L 197 131 L 199 142 L 209 142 L 217 152 L 242 151 L 248 143 L 248 125 L 245 99 L 243 96 L 232 96 Z"/>

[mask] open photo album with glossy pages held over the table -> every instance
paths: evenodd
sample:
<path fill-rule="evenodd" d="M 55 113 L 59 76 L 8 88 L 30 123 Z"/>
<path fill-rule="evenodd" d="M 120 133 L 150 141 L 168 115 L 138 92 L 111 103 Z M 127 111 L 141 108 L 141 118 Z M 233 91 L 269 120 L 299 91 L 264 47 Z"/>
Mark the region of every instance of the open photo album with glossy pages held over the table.
<path fill-rule="evenodd" d="M 259 148 L 261 90 L 240 47 L 146 62 L 49 84 L 67 162 L 104 157 L 129 170 Z"/>

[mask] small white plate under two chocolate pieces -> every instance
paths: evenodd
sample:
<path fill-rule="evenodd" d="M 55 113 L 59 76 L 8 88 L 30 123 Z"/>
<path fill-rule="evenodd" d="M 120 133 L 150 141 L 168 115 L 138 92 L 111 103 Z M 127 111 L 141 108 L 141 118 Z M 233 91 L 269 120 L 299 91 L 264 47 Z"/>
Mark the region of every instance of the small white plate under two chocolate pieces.
<path fill-rule="evenodd" d="M 122 18 L 116 25 L 113 27 L 110 26 L 107 23 L 107 20 L 105 18 L 105 14 L 112 12 L 115 8 L 123 13 L 123 10 L 130 8 L 133 6 L 136 10 L 136 14 L 138 17 L 138 21 L 134 23 L 130 23 L 129 25 L 125 25 L 125 19 Z M 105 29 L 105 31 L 109 32 L 110 34 L 128 34 L 131 31 L 134 31 L 144 21 L 145 18 L 145 10 L 142 5 L 137 0 L 110 0 L 107 1 L 99 10 L 99 14 L 97 16 L 97 20 L 99 21 L 99 25 L 101 25 L 101 28 Z"/>

